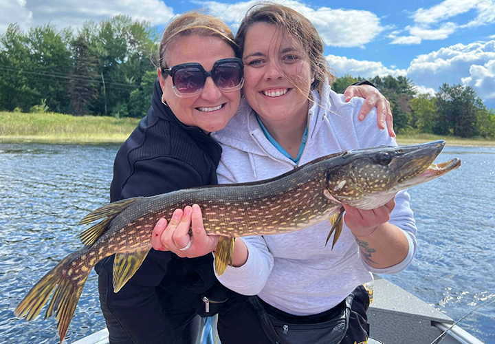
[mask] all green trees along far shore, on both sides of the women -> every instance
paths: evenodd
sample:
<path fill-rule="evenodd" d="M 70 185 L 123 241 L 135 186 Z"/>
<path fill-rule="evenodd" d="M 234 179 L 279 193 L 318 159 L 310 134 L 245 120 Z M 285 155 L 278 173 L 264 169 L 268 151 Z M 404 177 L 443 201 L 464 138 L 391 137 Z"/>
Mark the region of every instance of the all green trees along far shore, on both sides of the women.
<path fill-rule="evenodd" d="M 52 24 L 0 36 L 0 110 L 54 111 L 74 116 L 142 117 L 156 79 L 159 32 L 146 21 L 115 16 L 75 32 Z M 337 78 L 336 92 L 358 80 Z M 495 112 L 472 87 L 443 84 L 418 94 L 404 76 L 370 81 L 391 103 L 398 133 L 495 137 Z"/>

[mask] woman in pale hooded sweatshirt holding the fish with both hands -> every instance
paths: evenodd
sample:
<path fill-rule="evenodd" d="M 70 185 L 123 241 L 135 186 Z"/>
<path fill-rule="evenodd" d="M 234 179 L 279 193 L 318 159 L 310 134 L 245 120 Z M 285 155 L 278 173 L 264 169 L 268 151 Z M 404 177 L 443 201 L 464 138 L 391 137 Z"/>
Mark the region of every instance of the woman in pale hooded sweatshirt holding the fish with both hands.
<path fill-rule="evenodd" d="M 386 130 L 376 127 L 375 111 L 366 120 L 358 119 L 361 99 L 347 103 L 331 90 L 333 75 L 322 39 L 298 12 L 278 4 L 254 6 L 239 27 L 236 43 L 244 63 L 245 99 L 228 125 L 212 133 L 223 149 L 217 169 L 220 183 L 264 180 L 322 155 L 396 144 Z M 371 211 L 344 206 L 344 228 L 333 250 L 323 244 L 328 221 L 296 233 L 237 238 L 233 266 L 219 281 L 239 294 L 257 297 L 236 296 L 222 310 L 222 343 L 290 340 L 291 327 L 270 327 L 274 319 L 316 324 L 300 343 L 319 343 L 311 334 L 321 327 L 328 334 L 338 332 L 325 337 L 325 343 L 366 343 L 369 300 L 362 284 L 371 280 L 371 272 L 404 270 L 416 252 L 408 201 L 408 193 L 401 192 L 395 201 Z M 197 205 L 177 211 L 165 231 L 155 228 L 162 242 L 155 239 L 153 247 L 177 246 L 177 239 L 191 241 L 191 224 L 203 254 L 214 250 L 218 238 L 201 232 Z M 186 252 L 183 248 L 179 254 L 190 257 Z M 349 295 L 354 298 L 351 303 Z M 329 325 L 346 308 L 350 314 L 344 326 L 338 325 L 339 330 Z M 271 324 L 264 312 L 270 314 Z"/>

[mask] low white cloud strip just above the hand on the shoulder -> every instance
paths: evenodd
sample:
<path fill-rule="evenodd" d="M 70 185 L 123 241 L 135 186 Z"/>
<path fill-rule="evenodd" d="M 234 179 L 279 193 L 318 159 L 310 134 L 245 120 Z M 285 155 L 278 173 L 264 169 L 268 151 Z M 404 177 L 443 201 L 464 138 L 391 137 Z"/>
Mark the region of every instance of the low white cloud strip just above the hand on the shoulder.
<path fill-rule="evenodd" d="M 386 76 L 391 74 L 393 76 L 404 76 L 406 71 L 404 69 L 388 68 L 381 62 L 376 61 L 360 61 L 353 58 L 347 58 L 345 56 L 328 55 L 327 61 L 329 61 L 330 67 L 336 76 L 344 76 L 345 74 L 351 74 L 352 76 L 362 76 L 363 78 L 373 78 L 373 76 Z"/>

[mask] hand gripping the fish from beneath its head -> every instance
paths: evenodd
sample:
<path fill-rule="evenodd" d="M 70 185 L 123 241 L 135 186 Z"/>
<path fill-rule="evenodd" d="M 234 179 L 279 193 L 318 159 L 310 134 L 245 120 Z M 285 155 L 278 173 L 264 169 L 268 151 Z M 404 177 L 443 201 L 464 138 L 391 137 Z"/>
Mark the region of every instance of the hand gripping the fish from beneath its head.
<path fill-rule="evenodd" d="M 369 237 L 379 226 L 388 222 L 395 207 L 395 200 L 388 201 L 384 206 L 366 211 L 342 204 L 346 211 L 344 221 L 355 237 Z"/>

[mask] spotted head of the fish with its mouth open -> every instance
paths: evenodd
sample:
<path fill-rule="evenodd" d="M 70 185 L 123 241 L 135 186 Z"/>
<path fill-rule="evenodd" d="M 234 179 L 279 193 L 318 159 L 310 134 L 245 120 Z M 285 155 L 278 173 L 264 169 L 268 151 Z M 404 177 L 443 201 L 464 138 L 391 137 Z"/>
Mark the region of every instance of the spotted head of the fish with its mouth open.
<path fill-rule="evenodd" d="M 412 146 L 349 151 L 327 170 L 325 195 L 362 209 L 382 206 L 398 191 L 459 167 L 459 159 L 432 164 L 444 146 L 445 141 L 439 140 Z"/>

